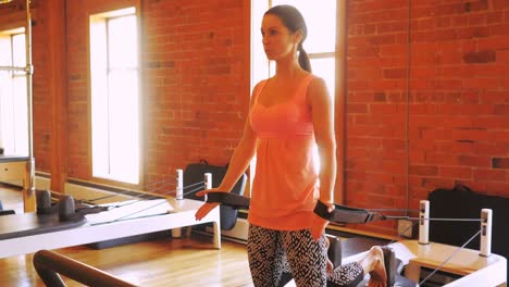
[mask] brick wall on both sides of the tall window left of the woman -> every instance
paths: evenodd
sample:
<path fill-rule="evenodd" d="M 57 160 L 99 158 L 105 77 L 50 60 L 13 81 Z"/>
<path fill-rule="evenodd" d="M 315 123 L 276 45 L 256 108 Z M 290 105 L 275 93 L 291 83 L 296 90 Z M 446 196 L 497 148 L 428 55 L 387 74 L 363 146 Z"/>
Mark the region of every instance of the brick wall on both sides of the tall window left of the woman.
<path fill-rule="evenodd" d="M 244 90 L 241 3 L 142 1 L 141 144 L 147 183 L 173 178 L 176 169 L 200 159 L 212 164 L 228 161 L 249 100 Z M 119 8 L 111 1 L 67 3 L 71 177 L 91 177 L 88 50 L 83 36 L 88 33 L 87 17 Z"/>

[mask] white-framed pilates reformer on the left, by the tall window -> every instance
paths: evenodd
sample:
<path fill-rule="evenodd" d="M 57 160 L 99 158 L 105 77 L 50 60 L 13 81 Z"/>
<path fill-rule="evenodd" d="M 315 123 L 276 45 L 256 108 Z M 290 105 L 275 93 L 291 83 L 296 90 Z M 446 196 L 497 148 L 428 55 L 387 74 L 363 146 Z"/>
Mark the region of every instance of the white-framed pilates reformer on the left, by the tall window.
<path fill-rule="evenodd" d="M 99 198 L 74 200 L 65 195 L 54 203 L 48 190 L 40 190 L 37 192 L 37 212 L 0 216 L 0 258 L 173 230 L 203 223 L 212 223 L 213 247 L 220 249 L 219 208 L 203 220 L 197 221 L 195 213 L 203 202 L 184 198 L 186 192 L 211 188 L 211 174 L 206 174 L 203 182 L 188 187 L 183 187 L 182 183 L 182 170 L 177 170 L 175 190 L 151 199 L 145 199 L 147 194 L 141 194 L 142 196 L 132 200 L 105 204 L 91 204 Z M 193 190 L 185 191 L 185 188 L 191 187 Z M 175 192 L 176 197 L 161 197 Z"/>

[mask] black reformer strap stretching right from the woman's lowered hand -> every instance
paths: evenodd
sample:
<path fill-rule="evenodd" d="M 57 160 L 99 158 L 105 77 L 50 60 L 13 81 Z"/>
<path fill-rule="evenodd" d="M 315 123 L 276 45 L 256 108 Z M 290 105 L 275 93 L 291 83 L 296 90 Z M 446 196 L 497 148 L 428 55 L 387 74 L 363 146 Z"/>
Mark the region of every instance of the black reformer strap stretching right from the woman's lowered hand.
<path fill-rule="evenodd" d="M 334 210 L 328 212 L 328 207 L 320 200 L 316 201 L 314 213 L 320 217 L 334 223 L 368 223 L 374 220 L 385 220 L 385 216 L 377 212 L 370 212 L 363 209 L 355 209 L 345 205 L 334 204 Z"/>

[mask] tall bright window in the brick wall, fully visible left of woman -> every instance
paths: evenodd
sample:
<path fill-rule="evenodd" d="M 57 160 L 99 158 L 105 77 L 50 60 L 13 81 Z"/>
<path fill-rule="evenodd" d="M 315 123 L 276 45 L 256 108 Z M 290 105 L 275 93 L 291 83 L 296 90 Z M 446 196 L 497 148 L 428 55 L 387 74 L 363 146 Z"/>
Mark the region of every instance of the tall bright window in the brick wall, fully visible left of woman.
<path fill-rule="evenodd" d="M 92 175 L 139 183 L 139 66 L 135 9 L 90 16 Z"/>

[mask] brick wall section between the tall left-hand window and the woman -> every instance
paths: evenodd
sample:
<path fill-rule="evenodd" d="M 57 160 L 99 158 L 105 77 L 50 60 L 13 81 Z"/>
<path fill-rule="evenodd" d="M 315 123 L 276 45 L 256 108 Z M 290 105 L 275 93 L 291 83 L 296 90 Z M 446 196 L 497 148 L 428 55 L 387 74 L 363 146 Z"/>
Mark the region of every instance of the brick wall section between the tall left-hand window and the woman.
<path fill-rule="evenodd" d="M 226 164 L 249 102 L 244 1 L 146 1 L 146 175 Z"/>

